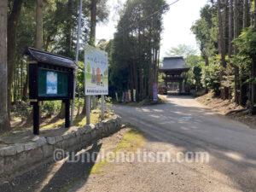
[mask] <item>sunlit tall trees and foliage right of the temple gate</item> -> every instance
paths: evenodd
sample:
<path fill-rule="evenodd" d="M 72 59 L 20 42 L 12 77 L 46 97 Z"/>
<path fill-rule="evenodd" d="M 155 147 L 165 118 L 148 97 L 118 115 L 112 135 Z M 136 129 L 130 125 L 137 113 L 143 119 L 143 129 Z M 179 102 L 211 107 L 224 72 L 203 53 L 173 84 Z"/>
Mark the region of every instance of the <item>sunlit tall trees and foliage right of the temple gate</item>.
<path fill-rule="evenodd" d="M 210 1 L 191 27 L 201 49 L 201 83 L 255 113 L 255 3 Z"/>

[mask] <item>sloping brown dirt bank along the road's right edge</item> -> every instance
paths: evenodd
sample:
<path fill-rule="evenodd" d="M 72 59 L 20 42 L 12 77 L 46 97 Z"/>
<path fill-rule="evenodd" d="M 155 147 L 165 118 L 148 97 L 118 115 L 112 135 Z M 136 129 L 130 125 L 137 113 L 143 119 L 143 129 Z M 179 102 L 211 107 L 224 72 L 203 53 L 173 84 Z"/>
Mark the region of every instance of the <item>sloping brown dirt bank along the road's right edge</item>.
<path fill-rule="evenodd" d="M 256 129 L 256 115 L 250 115 L 249 110 L 237 106 L 235 102 L 229 100 L 222 100 L 214 97 L 212 93 L 196 98 L 197 102 L 211 108 L 213 111 L 224 114 L 231 119 L 236 119 L 242 123 L 249 125 L 251 128 Z"/>

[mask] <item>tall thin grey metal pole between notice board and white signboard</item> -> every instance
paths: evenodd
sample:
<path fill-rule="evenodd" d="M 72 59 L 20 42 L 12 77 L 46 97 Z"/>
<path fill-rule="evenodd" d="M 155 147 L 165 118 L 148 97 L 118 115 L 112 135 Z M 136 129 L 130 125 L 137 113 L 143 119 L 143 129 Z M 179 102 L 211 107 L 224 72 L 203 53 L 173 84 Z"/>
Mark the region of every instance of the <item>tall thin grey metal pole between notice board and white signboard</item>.
<path fill-rule="evenodd" d="M 76 50 L 76 61 L 75 61 L 77 66 L 79 66 L 79 40 L 80 40 L 80 33 L 81 33 L 82 8 L 83 8 L 83 0 L 80 0 L 79 28 L 78 28 L 77 50 Z M 76 86 L 77 86 L 77 75 L 78 75 L 78 67 L 75 70 L 75 75 L 73 80 L 73 103 L 72 103 L 71 122 L 70 122 L 71 125 L 73 125 L 73 110 L 74 110 L 74 100 L 76 97 L 75 95 L 76 95 Z"/>

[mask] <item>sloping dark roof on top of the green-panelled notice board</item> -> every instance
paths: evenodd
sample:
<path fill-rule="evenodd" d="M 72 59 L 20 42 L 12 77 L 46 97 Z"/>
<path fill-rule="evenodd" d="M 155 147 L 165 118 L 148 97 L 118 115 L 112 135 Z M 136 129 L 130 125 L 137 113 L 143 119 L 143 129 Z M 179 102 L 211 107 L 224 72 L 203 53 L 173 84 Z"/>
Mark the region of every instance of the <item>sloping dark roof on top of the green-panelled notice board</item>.
<path fill-rule="evenodd" d="M 38 61 L 40 63 L 52 64 L 59 67 L 69 67 L 69 68 L 76 68 L 75 61 L 71 58 L 55 55 L 43 50 L 34 49 L 31 47 L 27 47 L 24 55 L 30 55 L 32 60 Z"/>

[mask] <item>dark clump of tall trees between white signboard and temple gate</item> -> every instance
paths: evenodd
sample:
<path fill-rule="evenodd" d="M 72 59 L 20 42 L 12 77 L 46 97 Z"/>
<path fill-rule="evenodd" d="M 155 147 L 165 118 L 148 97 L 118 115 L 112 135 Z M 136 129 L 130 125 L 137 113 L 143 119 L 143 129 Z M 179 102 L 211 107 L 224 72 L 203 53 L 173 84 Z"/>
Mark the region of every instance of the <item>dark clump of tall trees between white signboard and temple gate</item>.
<path fill-rule="evenodd" d="M 137 101 L 152 99 L 158 82 L 164 0 L 127 1 L 117 32 L 108 44 L 110 94 L 137 90 Z"/>

